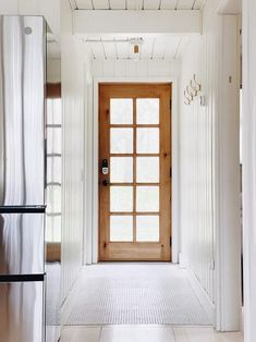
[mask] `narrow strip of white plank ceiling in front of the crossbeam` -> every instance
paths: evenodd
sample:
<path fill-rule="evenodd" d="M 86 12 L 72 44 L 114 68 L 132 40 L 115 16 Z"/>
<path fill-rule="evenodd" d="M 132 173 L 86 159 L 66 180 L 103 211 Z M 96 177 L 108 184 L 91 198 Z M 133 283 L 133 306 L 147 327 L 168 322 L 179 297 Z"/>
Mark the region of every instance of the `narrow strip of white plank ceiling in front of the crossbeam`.
<path fill-rule="evenodd" d="M 202 10 L 206 0 L 73 0 L 76 10 Z"/>

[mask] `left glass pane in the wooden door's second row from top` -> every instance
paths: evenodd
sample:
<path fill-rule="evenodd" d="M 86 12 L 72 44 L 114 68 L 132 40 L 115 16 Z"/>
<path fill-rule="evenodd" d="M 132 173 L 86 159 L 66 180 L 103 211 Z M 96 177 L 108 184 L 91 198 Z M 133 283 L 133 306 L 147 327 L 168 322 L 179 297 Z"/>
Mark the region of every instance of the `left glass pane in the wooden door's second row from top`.
<path fill-rule="evenodd" d="M 110 129 L 110 154 L 133 152 L 133 129 Z"/>

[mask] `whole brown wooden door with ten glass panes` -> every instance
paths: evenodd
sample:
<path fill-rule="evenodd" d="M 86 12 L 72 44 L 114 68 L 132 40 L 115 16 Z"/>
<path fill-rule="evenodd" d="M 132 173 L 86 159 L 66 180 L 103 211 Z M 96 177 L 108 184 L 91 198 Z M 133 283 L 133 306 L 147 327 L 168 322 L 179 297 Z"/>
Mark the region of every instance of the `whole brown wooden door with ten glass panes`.
<path fill-rule="evenodd" d="M 99 259 L 171 259 L 171 86 L 99 86 Z"/>

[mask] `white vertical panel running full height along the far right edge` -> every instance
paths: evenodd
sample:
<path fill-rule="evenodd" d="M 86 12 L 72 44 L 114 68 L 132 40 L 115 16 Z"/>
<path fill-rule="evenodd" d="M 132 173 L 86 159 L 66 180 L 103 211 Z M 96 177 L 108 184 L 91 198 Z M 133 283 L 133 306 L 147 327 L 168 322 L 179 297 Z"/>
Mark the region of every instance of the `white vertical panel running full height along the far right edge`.
<path fill-rule="evenodd" d="M 245 342 L 256 341 L 256 2 L 243 1 L 243 236 Z"/>

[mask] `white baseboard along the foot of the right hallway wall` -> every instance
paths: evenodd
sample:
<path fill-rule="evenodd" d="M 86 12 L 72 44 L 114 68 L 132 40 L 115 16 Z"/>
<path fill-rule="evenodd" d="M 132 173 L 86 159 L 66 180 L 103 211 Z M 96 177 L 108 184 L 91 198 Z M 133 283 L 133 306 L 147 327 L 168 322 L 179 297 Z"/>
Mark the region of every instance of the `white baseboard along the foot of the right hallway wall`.
<path fill-rule="evenodd" d="M 204 307 L 209 321 L 215 326 L 216 325 L 215 304 L 210 301 L 207 292 L 202 286 L 198 278 L 196 277 L 195 272 L 191 268 L 190 264 L 185 260 L 182 253 L 180 253 L 180 255 L 179 255 L 179 261 L 180 261 L 180 266 L 182 268 L 186 269 L 188 281 L 190 281 L 193 290 L 195 291 L 196 296 L 197 296 L 198 301 L 200 302 L 200 305 Z"/>

